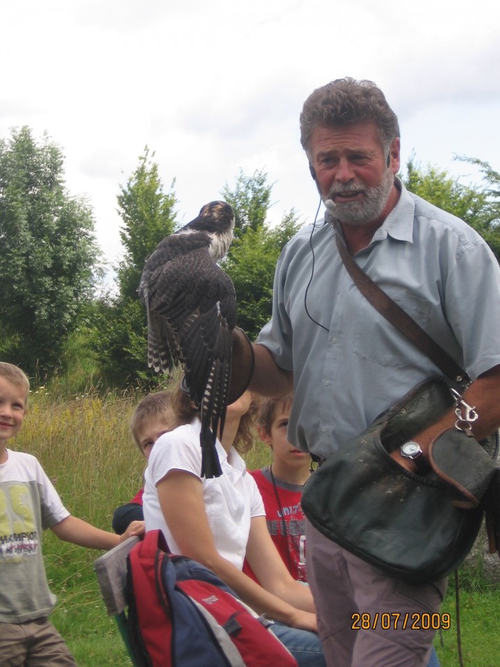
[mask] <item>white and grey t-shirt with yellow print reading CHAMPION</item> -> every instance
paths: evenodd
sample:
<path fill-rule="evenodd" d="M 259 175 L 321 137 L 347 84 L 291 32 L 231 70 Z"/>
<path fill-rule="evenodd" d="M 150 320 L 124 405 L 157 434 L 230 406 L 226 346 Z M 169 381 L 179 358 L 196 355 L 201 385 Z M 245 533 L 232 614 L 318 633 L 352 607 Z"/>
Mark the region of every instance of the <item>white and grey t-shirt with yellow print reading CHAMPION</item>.
<path fill-rule="evenodd" d="M 31 454 L 6 450 L 0 464 L 0 622 L 49 616 L 56 596 L 42 559 L 42 532 L 69 511 Z"/>

